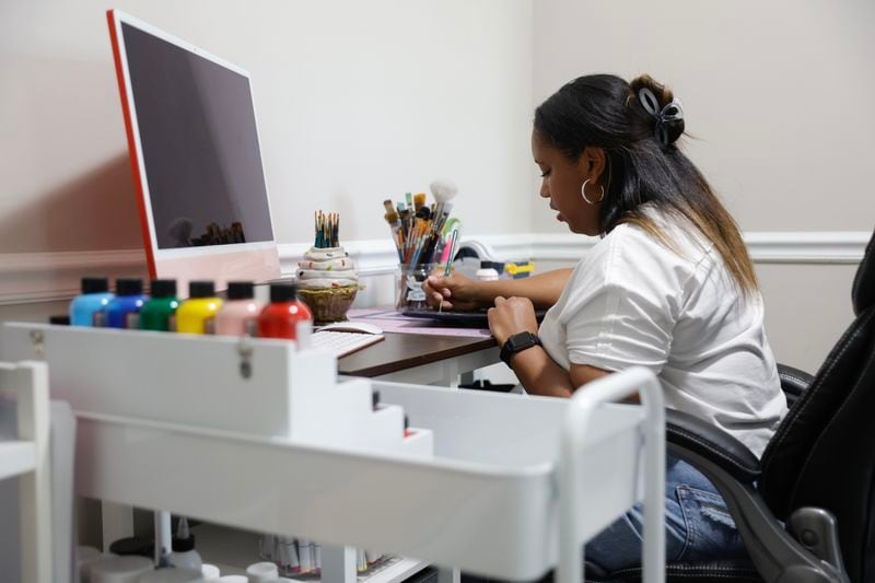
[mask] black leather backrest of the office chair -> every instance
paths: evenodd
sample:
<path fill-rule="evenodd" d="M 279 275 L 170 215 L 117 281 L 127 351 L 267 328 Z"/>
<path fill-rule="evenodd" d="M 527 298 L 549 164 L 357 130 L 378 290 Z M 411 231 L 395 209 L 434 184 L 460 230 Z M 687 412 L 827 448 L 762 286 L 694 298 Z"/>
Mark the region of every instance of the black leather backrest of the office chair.
<path fill-rule="evenodd" d="M 851 581 L 875 583 L 875 236 L 852 295 L 856 318 L 766 448 L 759 490 L 781 520 L 832 512 Z"/>

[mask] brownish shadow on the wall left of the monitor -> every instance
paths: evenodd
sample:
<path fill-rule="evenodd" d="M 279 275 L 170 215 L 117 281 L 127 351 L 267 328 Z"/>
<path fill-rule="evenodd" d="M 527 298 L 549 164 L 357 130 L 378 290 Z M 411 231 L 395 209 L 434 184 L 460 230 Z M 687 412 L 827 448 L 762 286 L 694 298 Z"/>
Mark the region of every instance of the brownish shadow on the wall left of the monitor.
<path fill-rule="evenodd" d="M 127 152 L 0 217 L 3 253 L 142 248 Z"/>

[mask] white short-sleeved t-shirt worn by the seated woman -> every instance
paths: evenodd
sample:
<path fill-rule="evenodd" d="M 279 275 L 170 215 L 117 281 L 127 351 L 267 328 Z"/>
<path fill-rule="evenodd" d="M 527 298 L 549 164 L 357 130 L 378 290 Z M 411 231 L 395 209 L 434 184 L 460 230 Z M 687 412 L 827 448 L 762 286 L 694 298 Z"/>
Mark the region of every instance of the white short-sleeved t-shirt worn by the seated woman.
<path fill-rule="evenodd" d="M 675 249 L 637 225 L 615 228 L 578 263 L 545 316 L 544 348 L 565 370 L 645 366 L 668 407 L 714 423 L 760 456 L 786 412 L 762 299 L 740 295 L 695 228 L 648 214 Z"/>

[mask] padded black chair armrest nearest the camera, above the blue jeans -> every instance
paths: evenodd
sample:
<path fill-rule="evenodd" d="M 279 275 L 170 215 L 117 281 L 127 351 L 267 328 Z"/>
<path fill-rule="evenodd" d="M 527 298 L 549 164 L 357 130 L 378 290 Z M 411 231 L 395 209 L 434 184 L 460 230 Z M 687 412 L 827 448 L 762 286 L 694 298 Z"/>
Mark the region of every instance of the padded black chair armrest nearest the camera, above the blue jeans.
<path fill-rule="evenodd" d="M 759 459 L 728 433 L 689 413 L 666 409 L 666 441 L 711 460 L 743 483 L 759 478 Z"/>

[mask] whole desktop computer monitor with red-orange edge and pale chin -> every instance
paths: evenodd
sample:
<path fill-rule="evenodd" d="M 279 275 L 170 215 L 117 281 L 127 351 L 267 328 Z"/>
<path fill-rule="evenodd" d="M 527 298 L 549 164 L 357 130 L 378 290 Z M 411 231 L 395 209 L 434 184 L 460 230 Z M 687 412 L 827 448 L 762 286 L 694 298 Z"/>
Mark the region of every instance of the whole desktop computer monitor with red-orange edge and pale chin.
<path fill-rule="evenodd" d="M 113 43 L 153 278 L 280 276 L 249 74 L 117 10 Z"/>

